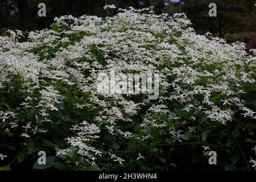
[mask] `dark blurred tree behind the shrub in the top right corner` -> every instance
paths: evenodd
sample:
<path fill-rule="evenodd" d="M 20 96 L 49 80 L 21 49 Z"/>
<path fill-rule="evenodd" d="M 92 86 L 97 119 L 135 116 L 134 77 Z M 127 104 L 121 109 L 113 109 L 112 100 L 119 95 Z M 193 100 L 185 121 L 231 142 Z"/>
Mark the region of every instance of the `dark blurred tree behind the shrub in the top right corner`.
<path fill-rule="evenodd" d="M 210 31 L 225 38 L 227 32 L 250 30 L 250 17 L 255 17 L 254 0 L 183 0 L 184 11 L 200 33 Z M 209 17 L 209 3 L 216 3 L 217 17 Z M 250 17 L 252 18 L 252 17 Z M 254 30 L 255 31 L 255 30 Z"/>

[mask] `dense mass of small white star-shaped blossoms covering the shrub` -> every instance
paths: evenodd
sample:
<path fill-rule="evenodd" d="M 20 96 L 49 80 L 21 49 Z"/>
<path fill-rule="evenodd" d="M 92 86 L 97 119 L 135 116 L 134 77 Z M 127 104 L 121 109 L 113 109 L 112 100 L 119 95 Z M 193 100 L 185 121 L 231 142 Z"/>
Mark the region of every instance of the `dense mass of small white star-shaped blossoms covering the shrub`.
<path fill-rule="evenodd" d="M 141 162 L 155 140 L 176 144 L 193 140 L 203 127 L 255 122 L 255 103 L 247 98 L 255 99 L 256 57 L 246 54 L 245 45 L 197 35 L 185 14 L 148 10 L 119 10 L 106 18 L 61 16 L 52 30 L 32 31 L 26 42 L 17 41 L 20 31 L 1 36 L 0 96 L 6 102 L 6 93 L 19 99 L 7 103 L 11 108 L 0 105 L 0 121 L 10 131 L 20 127 L 15 132 L 25 142 L 51 133 L 52 126 L 67 126 L 67 148 L 56 155 L 76 151 L 93 166 L 108 153 L 119 164 L 129 161 L 118 143 L 144 147 L 134 151 L 134 160 Z M 159 73 L 158 99 L 148 100 L 148 93 L 99 94 L 97 77 L 112 68 Z M 251 132 L 244 127 L 236 129 Z M 163 148 L 151 146 L 162 154 Z"/>

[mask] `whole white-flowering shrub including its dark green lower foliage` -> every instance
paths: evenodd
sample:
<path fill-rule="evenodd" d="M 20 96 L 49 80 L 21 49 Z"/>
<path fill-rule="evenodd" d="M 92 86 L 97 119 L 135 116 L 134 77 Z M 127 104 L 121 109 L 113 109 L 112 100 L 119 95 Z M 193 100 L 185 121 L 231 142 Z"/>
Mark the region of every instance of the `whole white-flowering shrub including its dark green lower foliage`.
<path fill-rule="evenodd" d="M 190 24 L 130 8 L 1 36 L 0 166 L 253 169 L 256 57 Z M 159 97 L 98 93 L 98 75 L 112 69 L 158 73 Z"/>

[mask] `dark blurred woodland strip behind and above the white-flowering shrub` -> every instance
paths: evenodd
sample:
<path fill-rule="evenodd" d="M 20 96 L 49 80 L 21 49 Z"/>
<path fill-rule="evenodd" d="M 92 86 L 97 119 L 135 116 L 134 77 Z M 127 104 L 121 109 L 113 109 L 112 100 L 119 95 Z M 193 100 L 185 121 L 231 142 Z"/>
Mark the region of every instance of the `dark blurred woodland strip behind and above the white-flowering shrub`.
<path fill-rule="evenodd" d="M 38 16 L 38 4 L 46 4 L 46 17 Z M 217 4 L 217 17 L 208 16 L 208 5 Z M 49 28 L 61 15 L 105 16 L 103 7 L 155 6 L 156 14 L 184 12 L 199 34 L 209 31 L 228 42 L 249 42 L 256 36 L 256 0 L 0 0 L 0 34 L 7 29 L 23 31 Z M 115 12 L 116 13 L 116 12 Z"/>

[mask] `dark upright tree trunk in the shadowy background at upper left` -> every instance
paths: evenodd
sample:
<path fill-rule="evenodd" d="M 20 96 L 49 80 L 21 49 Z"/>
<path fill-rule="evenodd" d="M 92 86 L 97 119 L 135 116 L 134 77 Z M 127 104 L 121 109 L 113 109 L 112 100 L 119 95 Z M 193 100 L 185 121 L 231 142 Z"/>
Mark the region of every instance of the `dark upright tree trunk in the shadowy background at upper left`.
<path fill-rule="evenodd" d="M 18 1 L 19 22 L 23 30 L 28 30 L 28 3 L 27 0 Z"/>

